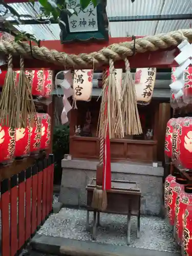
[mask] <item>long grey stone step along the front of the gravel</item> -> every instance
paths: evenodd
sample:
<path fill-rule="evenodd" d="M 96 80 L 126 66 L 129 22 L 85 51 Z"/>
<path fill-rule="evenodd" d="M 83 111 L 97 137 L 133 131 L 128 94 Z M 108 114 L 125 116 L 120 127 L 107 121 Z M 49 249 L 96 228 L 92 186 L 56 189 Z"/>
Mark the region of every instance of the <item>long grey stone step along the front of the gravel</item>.
<path fill-rule="evenodd" d="M 180 253 L 164 252 L 101 244 L 92 241 L 79 241 L 75 239 L 59 238 L 36 234 L 31 241 L 31 246 L 36 251 L 56 255 L 71 256 L 180 256 Z"/>

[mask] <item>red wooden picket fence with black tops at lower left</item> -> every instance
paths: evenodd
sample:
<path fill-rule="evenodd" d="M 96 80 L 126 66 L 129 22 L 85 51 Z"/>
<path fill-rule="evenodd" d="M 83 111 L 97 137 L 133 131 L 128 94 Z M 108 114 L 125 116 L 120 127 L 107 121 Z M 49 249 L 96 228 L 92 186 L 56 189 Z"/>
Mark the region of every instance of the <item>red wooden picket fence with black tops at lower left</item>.
<path fill-rule="evenodd" d="M 49 216 L 54 157 L 37 160 L 1 182 L 2 256 L 15 256 Z"/>

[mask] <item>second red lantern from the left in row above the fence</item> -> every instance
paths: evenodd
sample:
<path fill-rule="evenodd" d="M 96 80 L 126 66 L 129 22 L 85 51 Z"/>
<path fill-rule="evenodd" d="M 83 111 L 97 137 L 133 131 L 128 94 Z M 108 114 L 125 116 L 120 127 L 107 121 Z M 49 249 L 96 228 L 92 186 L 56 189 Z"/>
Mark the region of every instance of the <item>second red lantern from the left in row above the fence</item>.
<path fill-rule="evenodd" d="M 30 127 L 16 129 L 15 157 L 26 156 L 30 150 Z"/>

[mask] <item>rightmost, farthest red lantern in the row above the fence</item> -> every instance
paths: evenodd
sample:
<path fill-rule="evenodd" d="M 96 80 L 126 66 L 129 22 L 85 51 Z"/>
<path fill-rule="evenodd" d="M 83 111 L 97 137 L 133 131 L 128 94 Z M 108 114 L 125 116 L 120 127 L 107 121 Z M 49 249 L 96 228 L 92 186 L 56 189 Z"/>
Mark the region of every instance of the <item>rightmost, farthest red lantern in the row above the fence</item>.
<path fill-rule="evenodd" d="M 51 139 L 51 117 L 48 114 L 39 114 L 41 116 L 41 140 L 40 150 L 48 148 Z"/>

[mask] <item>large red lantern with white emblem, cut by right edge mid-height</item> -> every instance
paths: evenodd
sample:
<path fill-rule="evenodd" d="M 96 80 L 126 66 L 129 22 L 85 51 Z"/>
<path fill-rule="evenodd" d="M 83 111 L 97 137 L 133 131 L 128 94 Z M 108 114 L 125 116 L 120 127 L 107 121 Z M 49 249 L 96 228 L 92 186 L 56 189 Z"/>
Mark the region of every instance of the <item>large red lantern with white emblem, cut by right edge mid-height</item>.
<path fill-rule="evenodd" d="M 179 159 L 184 168 L 192 168 L 192 118 L 183 118 L 182 133 L 179 137 Z"/>

